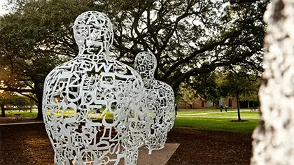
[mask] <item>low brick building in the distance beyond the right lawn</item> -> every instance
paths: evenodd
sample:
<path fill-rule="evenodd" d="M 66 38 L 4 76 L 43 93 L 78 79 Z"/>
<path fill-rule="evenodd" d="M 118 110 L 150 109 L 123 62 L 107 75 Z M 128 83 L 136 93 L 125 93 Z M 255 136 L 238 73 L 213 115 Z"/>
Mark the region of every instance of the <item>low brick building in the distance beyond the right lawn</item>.
<path fill-rule="evenodd" d="M 179 109 L 218 108 L 220 105 L 223 105 L 223 107 L 225 107 L 225 104 L 228 104 L 228 108 L 237 108 L 237 99 L 225 97 L 221 98 L 218 102 L 195 99 L 192 105 L 186 103 L 185 101 L 179 101 L 179 103 L 177 103 Z"/>

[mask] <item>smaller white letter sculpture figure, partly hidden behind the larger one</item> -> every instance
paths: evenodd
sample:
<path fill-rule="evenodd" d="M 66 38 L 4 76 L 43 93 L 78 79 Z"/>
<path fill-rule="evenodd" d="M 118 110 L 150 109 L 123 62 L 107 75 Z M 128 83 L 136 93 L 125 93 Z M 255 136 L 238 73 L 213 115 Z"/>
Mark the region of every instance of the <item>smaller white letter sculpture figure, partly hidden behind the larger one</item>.
<path fill-rule="evenodd" d="M 174 126 L 174 91 L 165 82 L 155 80 L 157 66 L 151 52 L 140 52 L 135 58 L 134 68 L 143 79 L 147 92 L 149 113 L 151 114 L 151 136 L 148 139 L 149 154 L 152 150 L 165 147 L 167 133 Z"/>

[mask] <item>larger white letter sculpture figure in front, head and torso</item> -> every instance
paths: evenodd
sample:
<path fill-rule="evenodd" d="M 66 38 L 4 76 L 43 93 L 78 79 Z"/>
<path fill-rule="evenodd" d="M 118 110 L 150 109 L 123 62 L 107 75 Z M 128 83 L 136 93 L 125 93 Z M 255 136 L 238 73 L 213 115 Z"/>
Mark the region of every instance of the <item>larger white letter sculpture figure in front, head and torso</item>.
<path fill-rule="evenodd" d="M 137 164 L 150 134 L 144 83 L 109 57 L 113 25 L 104 13 L 76 18 L 79 52 L 45 79 L 43 117 L 55 164 Z"/>

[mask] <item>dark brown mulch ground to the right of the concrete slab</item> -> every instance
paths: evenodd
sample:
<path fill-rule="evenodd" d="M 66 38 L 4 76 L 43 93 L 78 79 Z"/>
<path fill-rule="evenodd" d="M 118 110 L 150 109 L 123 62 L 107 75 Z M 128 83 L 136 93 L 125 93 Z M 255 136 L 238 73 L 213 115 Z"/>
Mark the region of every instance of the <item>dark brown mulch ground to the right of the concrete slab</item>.
<path fill-rule="evenodd" d="M 251 135 L 172 129 L 168 143 L 181 143 L 167 164 L 250 164 Z"/>

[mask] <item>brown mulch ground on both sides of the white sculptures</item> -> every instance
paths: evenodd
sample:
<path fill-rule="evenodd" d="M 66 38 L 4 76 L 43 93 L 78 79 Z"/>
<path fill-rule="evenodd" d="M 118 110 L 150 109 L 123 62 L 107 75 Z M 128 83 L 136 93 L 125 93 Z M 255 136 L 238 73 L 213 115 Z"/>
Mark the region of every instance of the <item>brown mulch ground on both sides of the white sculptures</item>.
<path fill-rule="evenodd" d="M 0 126 L 0 164 L 53 165 L 44 124 Z M 167 143 L 181 143 L 167 164 L 250 164 L 251 135 L 172 129 Z"/>

